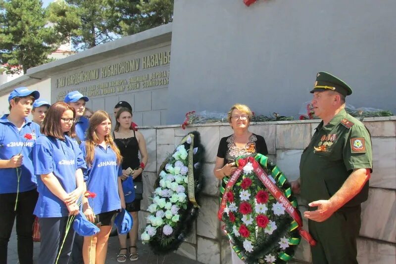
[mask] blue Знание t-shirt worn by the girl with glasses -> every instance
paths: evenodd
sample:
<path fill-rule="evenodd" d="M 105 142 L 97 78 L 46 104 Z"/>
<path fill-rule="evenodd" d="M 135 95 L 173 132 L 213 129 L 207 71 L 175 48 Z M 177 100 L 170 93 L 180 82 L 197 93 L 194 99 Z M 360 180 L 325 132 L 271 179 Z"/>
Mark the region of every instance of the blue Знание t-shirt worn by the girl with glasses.
<path fill-rule="evenodd" d="M 49 190 L 41 175 L 52 173 L 67 193 L 76 189 L 76 171 L 85 169 L 86 165 L 74 139 L 67 135 L 65 140 L 40 136 L 33 147 L 33 164 L 39 192 L 34 214 L 39 218 L 68 216 L 66 205 Z"/>

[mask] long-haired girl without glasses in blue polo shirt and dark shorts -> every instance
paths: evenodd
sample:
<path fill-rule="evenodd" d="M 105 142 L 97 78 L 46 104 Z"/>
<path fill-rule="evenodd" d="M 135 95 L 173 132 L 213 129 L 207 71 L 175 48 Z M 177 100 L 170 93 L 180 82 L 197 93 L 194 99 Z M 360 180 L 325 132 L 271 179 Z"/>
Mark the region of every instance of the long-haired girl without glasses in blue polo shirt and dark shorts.
<path fill-rule="evenodd" d="M 104 264 L 112 218 L 120 208 L 125 209 L 120 177 L 122 157 L 111 136 L 110 120 L 105 111 L 96 111 L 90 118 L 87 141 L 80 145 L 87 162 L 86 189 L 96 194 L 95 198 L 83 198 L 83 212 L 100 228 L 98 234 L 84 237 L 84 263 Z"/>

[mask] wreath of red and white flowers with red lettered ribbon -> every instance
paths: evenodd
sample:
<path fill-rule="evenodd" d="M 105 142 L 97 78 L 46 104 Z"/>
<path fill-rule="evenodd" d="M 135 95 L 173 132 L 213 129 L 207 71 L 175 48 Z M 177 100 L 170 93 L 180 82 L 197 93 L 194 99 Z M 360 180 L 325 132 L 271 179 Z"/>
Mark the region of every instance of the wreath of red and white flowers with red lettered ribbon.
<path fill-rule="evenodd" d="M 239 258 L 246 263 L 285 263 L 301 236 L 314 245 L 301 228 L 297 200 L 278 167 L 261 154 L 240 158 L 237 165 L 226 188 L 221 187 L 218 218 Z"/>

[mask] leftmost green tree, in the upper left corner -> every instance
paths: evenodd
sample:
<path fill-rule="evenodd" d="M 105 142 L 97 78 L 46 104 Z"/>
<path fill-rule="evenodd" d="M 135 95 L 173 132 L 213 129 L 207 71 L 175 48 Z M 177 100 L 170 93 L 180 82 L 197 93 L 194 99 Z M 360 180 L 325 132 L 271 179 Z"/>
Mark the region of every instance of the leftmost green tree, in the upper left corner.
<path fill-rule="evenodd" d="M 48 25 L 41 0 L 0 0 L 0 63 L 7 74 L 49 62 L 62 41 Z"/>

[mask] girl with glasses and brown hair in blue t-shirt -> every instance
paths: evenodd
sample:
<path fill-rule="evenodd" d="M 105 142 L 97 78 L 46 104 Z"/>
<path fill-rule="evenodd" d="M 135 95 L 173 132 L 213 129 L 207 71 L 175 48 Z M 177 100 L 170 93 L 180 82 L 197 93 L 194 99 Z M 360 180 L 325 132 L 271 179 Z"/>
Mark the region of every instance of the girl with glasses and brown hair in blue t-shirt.
<path fill-rule="evenodd" d="M 33 147 L 39 199 L 34 214 L 39 217 L 41 245 L 39 263 L 67 264 L 74 230 L 66 232 L 68 216 L 77 215 L 77 200 L 84 192 L 82 168 L 86 168 L 75 136 L 75 110 L 66 103 L 49 107 L 40 136 Z M 64 240 L 63 247 L 61 244 Z"/>

